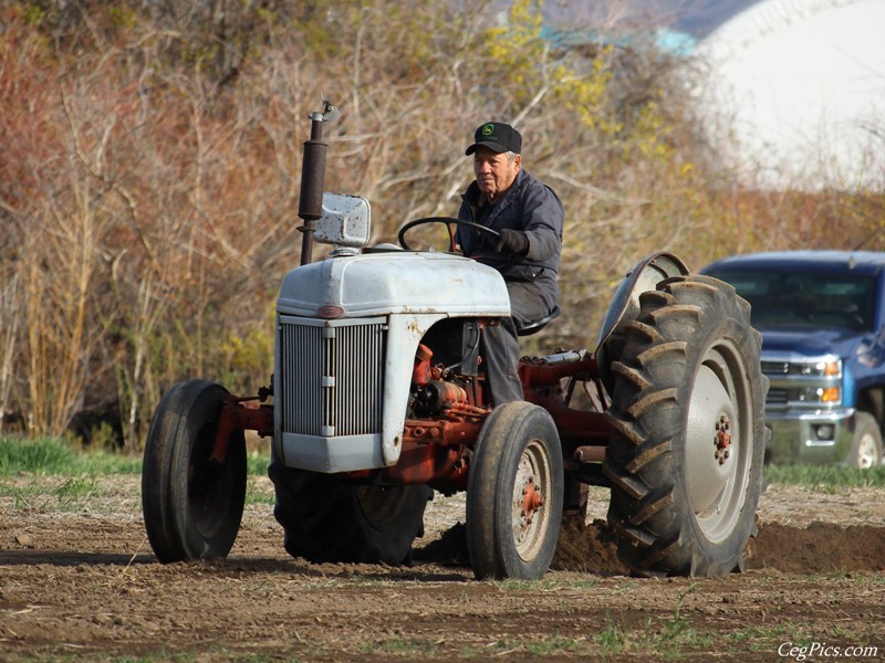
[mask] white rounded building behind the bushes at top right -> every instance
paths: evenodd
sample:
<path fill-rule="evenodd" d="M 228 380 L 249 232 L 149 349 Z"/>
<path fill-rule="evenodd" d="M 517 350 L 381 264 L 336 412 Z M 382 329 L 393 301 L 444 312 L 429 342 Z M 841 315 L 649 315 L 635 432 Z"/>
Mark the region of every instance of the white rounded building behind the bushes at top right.
<path fill-rule="evenodd" d="M 697 55 L 714 145 L 747 183 L 885 190 L 885 0 L 764 0 Z"/>

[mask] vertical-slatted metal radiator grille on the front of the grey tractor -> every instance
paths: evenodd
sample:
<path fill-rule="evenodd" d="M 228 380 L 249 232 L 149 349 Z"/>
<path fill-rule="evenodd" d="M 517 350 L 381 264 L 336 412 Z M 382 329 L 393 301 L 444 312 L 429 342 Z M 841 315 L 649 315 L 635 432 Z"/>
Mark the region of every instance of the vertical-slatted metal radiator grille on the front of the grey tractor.
<path fill-rule="evenodd" d="M 280 316 L 278 334 L 282 432 L 325 438 L 381 432 L 384 320 Z"/>

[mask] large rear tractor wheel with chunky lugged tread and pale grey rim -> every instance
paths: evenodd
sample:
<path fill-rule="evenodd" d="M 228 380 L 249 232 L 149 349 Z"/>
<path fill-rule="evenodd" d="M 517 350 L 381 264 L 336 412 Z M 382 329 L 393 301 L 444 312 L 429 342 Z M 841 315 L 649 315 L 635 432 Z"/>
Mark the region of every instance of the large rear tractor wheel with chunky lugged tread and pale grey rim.
<path fill-rule="evenodd" d="M 641 295 L 612 365 L 603 470 L 618 556 L 641 575 L 742 570 L 762 484 L 762 338 L 721 281 L 676 276 L 657 287 Z"/>

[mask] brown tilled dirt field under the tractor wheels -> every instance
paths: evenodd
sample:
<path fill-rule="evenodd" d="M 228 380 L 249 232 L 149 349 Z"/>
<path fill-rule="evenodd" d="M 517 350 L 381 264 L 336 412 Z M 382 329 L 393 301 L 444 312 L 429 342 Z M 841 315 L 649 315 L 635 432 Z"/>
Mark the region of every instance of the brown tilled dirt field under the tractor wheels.
<path fill-rule="evenodd" d="M 885 491 L 770 487 L 748 570 L 716 579 L 631 577 L 594 491 L 544 580 L 479 582 L 462 496 L 409 568 L 291 559 L 267 504 L 227 560 L 162 566 L 137 477 L 73 505 L 14 490 L 34 481 L 0 486 L 2 661 L 885 660 Z"/>

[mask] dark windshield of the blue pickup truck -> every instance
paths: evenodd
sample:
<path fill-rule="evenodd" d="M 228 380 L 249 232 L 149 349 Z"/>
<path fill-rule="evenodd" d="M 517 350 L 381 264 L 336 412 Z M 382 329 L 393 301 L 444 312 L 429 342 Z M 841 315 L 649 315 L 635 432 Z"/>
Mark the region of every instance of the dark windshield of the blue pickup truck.
<path fill-rule="evenodd" d="M 710 272 L 752 306 L 754 327 L 873 329 L 875 277 L 822 272 Z"/>

